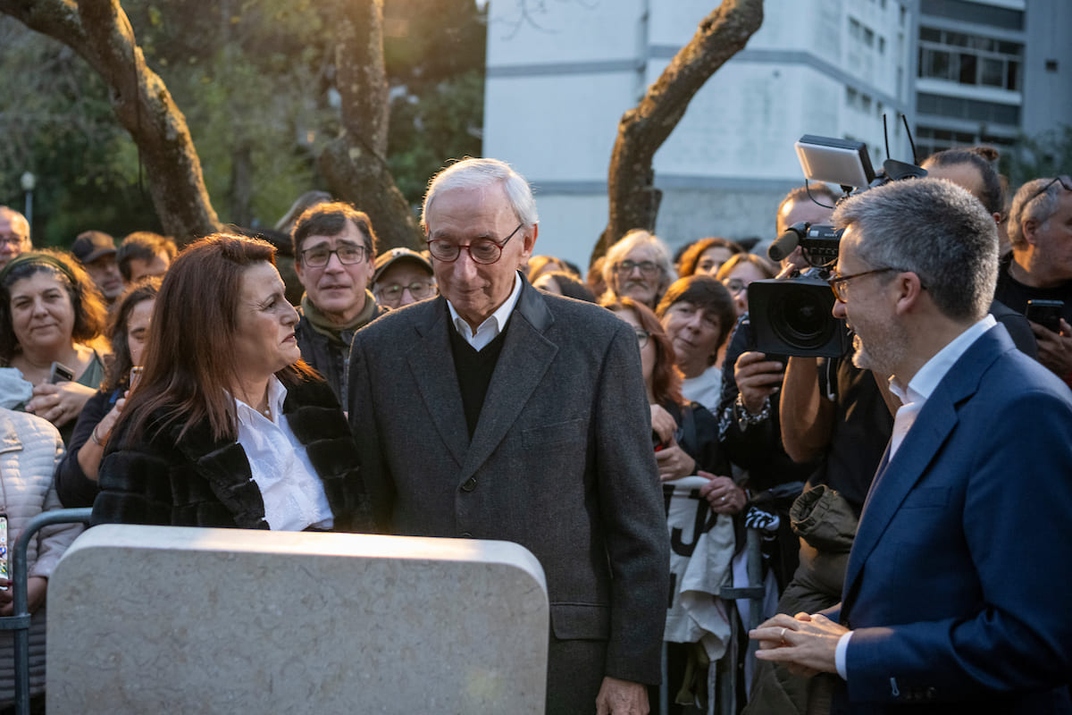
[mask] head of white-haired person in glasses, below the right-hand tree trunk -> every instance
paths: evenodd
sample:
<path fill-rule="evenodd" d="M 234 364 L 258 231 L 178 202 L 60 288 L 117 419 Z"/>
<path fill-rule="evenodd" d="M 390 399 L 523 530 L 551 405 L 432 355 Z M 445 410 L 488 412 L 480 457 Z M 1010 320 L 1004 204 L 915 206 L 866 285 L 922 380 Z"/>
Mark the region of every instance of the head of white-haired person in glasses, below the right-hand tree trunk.
<path fill-rule="evenodd" d="M 602 274 L 605 300 L 632 298 L 652 310 L 678 278 L 666 243 L 642 228 L 634 228 L 607 250 Z"/>

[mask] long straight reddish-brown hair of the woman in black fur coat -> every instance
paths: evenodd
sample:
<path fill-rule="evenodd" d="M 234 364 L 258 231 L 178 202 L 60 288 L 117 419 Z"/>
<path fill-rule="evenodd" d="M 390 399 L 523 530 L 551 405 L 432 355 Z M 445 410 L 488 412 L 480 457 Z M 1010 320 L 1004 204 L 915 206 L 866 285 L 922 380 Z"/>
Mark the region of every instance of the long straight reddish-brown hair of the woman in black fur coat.
<path fill-rule="evenodd" d="M 190 244 L 172 264 L 152 308 L 145 372 L 119 418 L 119 424 L 131 423 L 126 444 L 148 430 L 151 437 L 176 423 L 181 438 L 205 421 L 213 440 L 237 438 L 230 396 L 239 384 L 240 366 L 230 341 L 238 327 L 242 277 L 259 263 L 276 265 L 271 243 L 213 234 Z M 299 360 L 276 376 L 291 387 L 313 374 Z"/>

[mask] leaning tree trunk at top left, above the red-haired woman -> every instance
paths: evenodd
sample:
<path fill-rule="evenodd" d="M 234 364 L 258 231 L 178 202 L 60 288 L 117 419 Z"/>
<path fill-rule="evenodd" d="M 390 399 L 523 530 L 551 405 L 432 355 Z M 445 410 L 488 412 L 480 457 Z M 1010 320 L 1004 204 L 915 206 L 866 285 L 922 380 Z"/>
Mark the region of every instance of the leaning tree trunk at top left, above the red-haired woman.
<path fill-rule="evenodd" d="M 166 233 L 185 243 L 220 229 L 185 117 L 146 65 L 118 0 L 0 0 L 0 12 L 68 45 L 101 75 L 145 163 Z"/>

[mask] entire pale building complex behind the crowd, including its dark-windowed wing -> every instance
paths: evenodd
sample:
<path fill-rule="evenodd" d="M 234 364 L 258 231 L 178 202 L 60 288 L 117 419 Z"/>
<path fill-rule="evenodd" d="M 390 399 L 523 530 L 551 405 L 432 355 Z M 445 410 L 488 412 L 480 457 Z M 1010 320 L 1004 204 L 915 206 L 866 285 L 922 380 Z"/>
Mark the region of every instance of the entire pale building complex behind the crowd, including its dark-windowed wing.
<path fill-rule="evenodd" d="M 536 188 L 537 252 L 581 267 L 607 223 L 607 170 L 635 107 L 717 0 L 491 0 L 485 150 Z M 1072 0 L 765 0 L 747 46 L 655 155 L 656 233 L 772 238 L 803 183 L 803 134 L 865 141 L 876 168 L 1072 123 Z"/>

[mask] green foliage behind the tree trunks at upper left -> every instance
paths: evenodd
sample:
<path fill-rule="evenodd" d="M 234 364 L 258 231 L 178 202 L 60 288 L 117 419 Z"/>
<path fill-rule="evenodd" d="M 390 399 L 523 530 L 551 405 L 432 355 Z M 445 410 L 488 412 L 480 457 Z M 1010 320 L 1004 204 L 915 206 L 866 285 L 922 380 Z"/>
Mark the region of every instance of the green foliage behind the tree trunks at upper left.
<path fill-rule="evenodd" d="M 222 222 L 272 226 L 298 195 L 324 188 L 316 158 L 340 128 L 329 98 L 330 3 L 122 4 L 147 63 L 185 116 Z M 480 153 L 485 12 L 474 0 L 385 2 L 396 98 L 389 163 L 415 204 L 446 160 Z M 19 176 L 38 176 L 35 242 L 68 245 L 88 228 L 117 237 L 159 230 L 137 150 L 100 77 L 69 48 L 6 16 L 0 62 L 0 132 L 8 139 L 0 146 L 0 203 L 21 208 Z"/>

